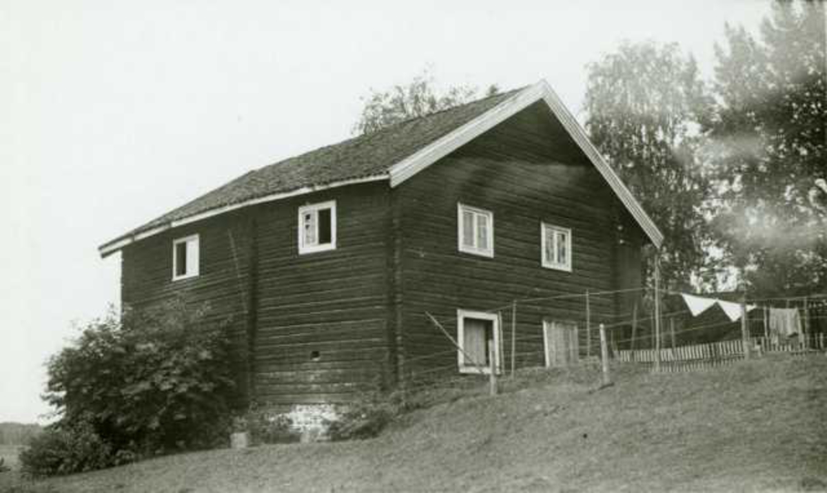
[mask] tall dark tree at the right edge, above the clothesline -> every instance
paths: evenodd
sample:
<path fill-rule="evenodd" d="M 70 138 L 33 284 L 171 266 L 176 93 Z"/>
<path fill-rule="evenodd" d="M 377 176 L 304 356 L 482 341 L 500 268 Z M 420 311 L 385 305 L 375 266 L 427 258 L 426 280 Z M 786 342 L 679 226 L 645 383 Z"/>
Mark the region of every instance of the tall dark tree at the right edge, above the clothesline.
<path fill-rule="evenodd" d="M 712 145 L 729 262 L 767 294 L 827 288 L 825 4 L 774 2 L 716 45 Z"/>

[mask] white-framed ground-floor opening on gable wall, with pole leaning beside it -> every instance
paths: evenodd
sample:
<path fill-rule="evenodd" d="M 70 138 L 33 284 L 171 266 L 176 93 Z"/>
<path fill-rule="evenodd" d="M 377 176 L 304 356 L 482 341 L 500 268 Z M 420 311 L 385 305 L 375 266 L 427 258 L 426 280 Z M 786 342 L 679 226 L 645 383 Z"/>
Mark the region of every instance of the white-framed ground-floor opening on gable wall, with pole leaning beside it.
<path fill-rule="evenodd" d="M 494 313 L 457 310 L 457 363 L 461 373 L 490 373 L 490 349 L 500 372 L 500 320 Z"/>

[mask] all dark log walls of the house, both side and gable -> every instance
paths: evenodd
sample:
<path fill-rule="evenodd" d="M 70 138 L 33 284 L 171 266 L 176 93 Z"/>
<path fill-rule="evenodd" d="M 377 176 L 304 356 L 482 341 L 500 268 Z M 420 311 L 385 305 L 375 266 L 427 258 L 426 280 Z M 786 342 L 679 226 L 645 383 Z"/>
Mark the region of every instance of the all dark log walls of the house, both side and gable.
<path fill-rule="evenodd" d="M 332 199 L 337 249 L 299 255 L 299 206 Z M 457 201 L 494 212 L 494 258 L 457 251 Z M 572 273 L 541 266 L 541 221 L 571 228 Z M 200 275 L 172 282 L 172 241 L 196 232 Z M 140 307 L 182 294 L 209 301 L 216 320 L 232 317 L 241 403 L 341 403 L 399 373 L 457 374 L 457 354 L 426 310 L 456 335 L 458 308 L 501 308 L 507 366 L 511 301 L 569 296 L 519 302 L 516 359 L 543 364 L 543 318 L 575 321 L 585 355 L 585 301 L 571 295 L 638 287 L 642 244 L 604 179 L 537 105 L 393 190 L 334 188 L 129 245 L 122 301 Z M 593 341 L 600 321 L 631 310 L 629 299 L 591 296 Z"/>

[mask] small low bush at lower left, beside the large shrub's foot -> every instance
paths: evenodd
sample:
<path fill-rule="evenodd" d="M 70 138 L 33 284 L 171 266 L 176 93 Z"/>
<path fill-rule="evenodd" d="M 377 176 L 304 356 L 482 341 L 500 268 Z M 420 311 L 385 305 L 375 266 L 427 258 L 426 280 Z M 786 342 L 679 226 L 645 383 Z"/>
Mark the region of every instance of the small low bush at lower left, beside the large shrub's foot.
<path fill-rule="evenodd" d="M 22 472 L 33 477 L 92 471 L 112 465 L 112 447 L 91 424 L 58 424 L 32 438 L 20 462 Z"/>

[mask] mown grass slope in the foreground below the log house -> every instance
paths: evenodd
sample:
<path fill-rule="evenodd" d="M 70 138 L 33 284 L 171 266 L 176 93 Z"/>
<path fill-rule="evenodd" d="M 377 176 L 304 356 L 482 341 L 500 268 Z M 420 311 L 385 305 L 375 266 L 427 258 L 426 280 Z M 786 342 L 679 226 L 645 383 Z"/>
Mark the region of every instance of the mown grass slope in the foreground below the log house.
<path fill-rule="evenodd" d="M 189 453 L 41 481 L 25 491 L 821 491 L 827 358 L 710 372 L 524 372 L 379 438 Z M 19 481 L 19 480 L 18 480 Z M 11 481 L 7 481 L 7 484 Z M 2 485 L 2 477 L 0 477 Z M 23 490 L 19 490 L 23 491 Z"/>

